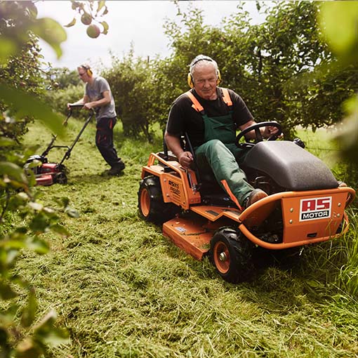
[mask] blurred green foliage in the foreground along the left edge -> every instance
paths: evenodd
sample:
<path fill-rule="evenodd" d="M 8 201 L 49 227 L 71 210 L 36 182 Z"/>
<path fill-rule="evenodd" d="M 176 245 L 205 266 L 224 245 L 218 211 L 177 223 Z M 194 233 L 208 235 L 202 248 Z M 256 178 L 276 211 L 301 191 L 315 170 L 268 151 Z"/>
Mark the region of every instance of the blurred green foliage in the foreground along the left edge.
<path fill-rule="evenodd" d="M 64 133 L 62 118 L 43 102 L 46 79 L 42 74 L 47 73 L 40 68 L 37 37 L 60 57 L 66 34 L 55 20 L 37 18 L 33 1 L 0 1 L 0 15 L 0 354 L 32 358 L 45 354 L 47 345 L 68 340 L 68 333 L 56 327 L 55 312 L 37 323 L 40 310 L 34 287 L 13 273 L 24 251 L 48 252 L 43 234 L 68 235 L 60 225 L 61 209 L 55 211 L 37 200 L 34 173 L 23 168 L 35 146 L 21 144 L 35 118 L 53 133 Z M 67 198 L 60 199 L 60 204 L 62 212 L 77 215 Z M 16 303 L 19 297 L 27 297 L 27 303 Z"/>

